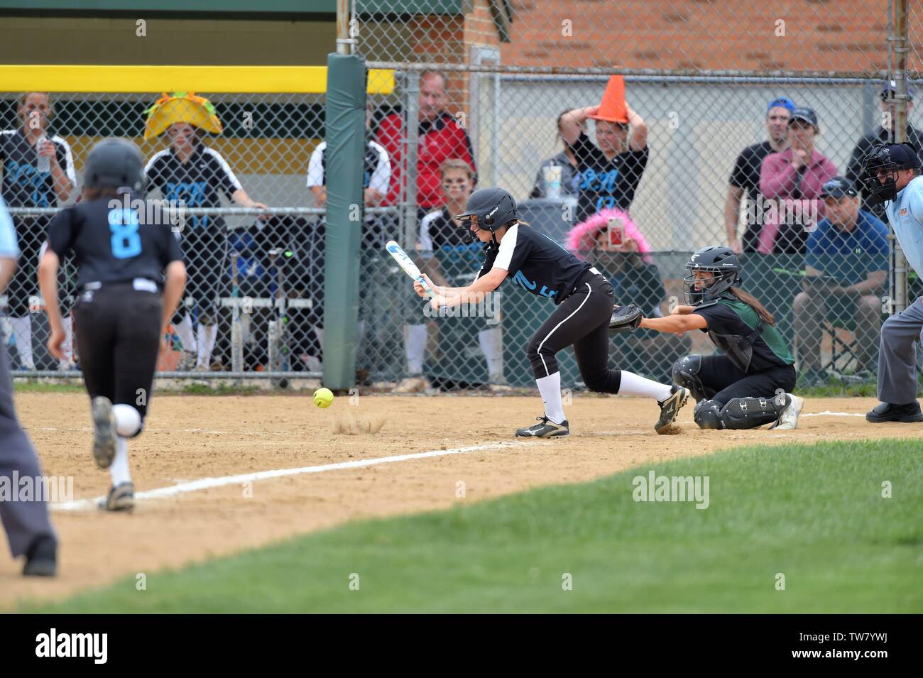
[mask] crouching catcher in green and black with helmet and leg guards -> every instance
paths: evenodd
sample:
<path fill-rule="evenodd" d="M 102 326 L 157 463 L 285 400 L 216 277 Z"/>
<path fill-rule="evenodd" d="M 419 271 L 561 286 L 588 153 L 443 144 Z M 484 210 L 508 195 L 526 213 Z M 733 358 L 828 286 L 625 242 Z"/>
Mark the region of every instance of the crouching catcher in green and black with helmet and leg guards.
<path fill-rule="evenodd" d="M 684 279 L 686 303 L 641 327 L 661 332 L 708 332 L 724 355 L 687 355 L 673 365 L 673 380 L 698 400 L 700 428 L 797 428 L 804 399 L 792 395 L 795 359 L 762 304 L 741 290 L 740 263 L 730 247 L 710 245 L 691 256 Z"/>

